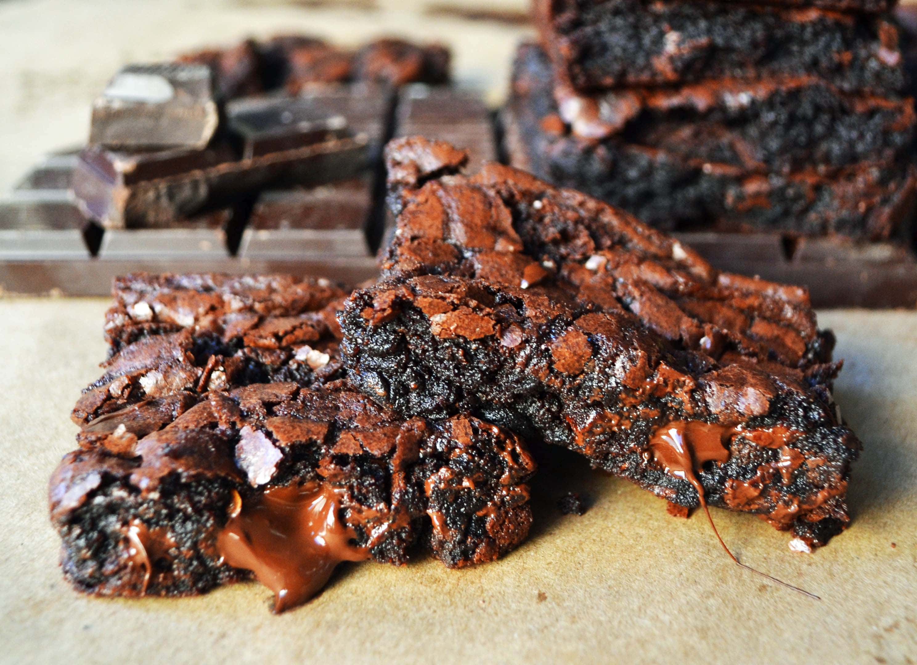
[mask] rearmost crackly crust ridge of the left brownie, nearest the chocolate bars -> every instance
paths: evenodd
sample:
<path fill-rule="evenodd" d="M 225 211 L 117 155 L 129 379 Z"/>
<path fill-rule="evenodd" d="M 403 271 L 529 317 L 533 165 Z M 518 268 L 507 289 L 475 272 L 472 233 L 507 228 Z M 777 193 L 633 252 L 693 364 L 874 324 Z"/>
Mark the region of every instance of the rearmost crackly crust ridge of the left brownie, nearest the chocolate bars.
<path fill-rule="evenodd" d="M 347 295 L 321 278 L 194 273 L 135 273 L 116 278 L 112 292 L 115 304 L 105 314 L 105 337 L 114 351 L 149 331 L 244 332 L 263 317 L 320 312 Z M 333 315 L 326 319 L 335 325 Z"/>

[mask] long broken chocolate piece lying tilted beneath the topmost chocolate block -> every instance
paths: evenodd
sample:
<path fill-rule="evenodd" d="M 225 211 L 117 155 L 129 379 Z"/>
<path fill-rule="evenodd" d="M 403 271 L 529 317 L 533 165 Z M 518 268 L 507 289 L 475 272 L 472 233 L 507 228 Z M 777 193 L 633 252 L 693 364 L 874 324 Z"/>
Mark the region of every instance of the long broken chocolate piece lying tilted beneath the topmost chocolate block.
<path fill-rule="evenodd" d="M 237 159 L 225 146 L 133 155 L 90 147 L 81 153 L 73 191 L 81 210 L 106 228 L 164 227 L 266 187 L 349 178 L 362 170 L 365 155 L 361 136 L 251 159 Z"/>

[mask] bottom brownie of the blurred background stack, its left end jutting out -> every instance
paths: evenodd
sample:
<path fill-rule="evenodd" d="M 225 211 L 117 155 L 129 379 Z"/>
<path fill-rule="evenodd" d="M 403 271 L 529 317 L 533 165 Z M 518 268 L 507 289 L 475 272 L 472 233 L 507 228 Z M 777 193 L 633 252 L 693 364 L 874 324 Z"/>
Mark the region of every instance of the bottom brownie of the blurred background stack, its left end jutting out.
<path fill-rule="evenodd" d="M 519 49 L 503 125 L 513 166 L 585 191 L 658 228 L 878 240 L 897 234 L 913 210 L 915 174 L 905 158 L 859 163 L 828 175 L 816 169 L 764 175 L 691 158 L 677 145 L 669 152 L 621 136 L 573 136 L 559 116 L 547 57 L 532 45 Z"/>

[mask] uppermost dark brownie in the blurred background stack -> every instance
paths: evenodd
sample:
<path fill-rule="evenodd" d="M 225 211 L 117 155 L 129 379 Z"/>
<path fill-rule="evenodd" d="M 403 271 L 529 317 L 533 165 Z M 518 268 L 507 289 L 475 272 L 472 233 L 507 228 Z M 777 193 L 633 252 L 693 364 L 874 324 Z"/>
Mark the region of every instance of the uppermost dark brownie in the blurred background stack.
<path fill-rule="evenodd" d="M 558 75 L 580 92 L 797 75 L 848 92 L 904 88 L 883 17 L 683 0 L 538 0 L 536 15 Z"/>

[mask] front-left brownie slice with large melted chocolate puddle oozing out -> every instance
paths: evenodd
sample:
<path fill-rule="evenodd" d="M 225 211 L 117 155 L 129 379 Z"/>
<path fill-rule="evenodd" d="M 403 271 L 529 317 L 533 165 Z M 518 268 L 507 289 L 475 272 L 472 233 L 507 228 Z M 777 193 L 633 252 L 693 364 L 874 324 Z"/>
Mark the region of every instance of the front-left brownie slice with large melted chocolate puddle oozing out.
<path fill-rule="evenodd" d="M 127 410 L 111 418 L 136 424 Z M 339 561 L 402 564 L 424 534 L 449 567 L 492 561 L 531 522 L 535 463 L 512 434 L 403 420 L 346 386 L 212 391 L 145 436 L 82 443 L 50 511 L 64 573 L 91 594 L 198 594 L 251 571 L 282 611 Z"/>

